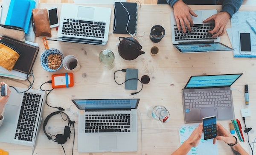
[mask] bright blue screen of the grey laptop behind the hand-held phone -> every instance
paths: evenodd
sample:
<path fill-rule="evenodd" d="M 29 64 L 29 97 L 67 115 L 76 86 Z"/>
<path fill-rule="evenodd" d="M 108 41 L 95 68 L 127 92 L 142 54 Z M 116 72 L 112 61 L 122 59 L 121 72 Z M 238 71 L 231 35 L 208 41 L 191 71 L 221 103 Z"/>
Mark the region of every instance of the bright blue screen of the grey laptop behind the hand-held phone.
<path fill-rule="evenodd" d="M 184 89 L 230 87 L 241 74 L 191 76 Z"/>

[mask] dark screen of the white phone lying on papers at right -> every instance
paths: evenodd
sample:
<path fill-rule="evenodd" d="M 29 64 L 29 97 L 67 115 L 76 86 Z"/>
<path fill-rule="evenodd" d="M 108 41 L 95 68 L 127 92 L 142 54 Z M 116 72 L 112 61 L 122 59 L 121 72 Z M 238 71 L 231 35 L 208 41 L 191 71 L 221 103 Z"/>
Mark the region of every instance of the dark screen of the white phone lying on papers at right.
<path fill-rule="evenodd" d="M 250 33 L 240 33 L 240 50 L 251 51 Z"/>

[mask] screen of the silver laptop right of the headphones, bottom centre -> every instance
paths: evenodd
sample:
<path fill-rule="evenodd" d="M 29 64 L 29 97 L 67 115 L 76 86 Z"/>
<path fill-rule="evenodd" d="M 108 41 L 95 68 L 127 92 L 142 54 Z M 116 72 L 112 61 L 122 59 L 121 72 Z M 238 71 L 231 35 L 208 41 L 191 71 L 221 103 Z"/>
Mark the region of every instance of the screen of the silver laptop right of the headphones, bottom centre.
<path fill-rule="evenodd" d="M 122 110 L 135 109 L 140 99 L 73 99 L 78 109 L 84 110 Z"/>

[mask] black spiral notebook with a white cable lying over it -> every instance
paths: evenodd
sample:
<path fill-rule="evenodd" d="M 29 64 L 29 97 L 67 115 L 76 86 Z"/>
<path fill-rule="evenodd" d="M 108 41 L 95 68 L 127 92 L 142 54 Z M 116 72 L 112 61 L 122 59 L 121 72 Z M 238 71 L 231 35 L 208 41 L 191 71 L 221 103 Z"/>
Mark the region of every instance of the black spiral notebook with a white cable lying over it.
<path fill-rule="evenodd" d="M 129 20 L 129 14 L 130 20 Z M 137 32 L 138 3 L 115 2 L 114 34 L 135 34 Z M 126 31 L 126 26 L 127 32 Z"/>

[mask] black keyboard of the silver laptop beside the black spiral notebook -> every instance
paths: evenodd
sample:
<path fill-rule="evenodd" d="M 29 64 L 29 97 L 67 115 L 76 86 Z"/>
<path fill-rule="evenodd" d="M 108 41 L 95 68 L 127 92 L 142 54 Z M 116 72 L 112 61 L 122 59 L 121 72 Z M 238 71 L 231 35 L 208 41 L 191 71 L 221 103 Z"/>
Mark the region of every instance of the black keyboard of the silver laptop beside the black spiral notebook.
<path fill-rule="evenodd" d="M 64 35 L 104 38 L 105 22 L 64 19 L 62 33 Z"/>

